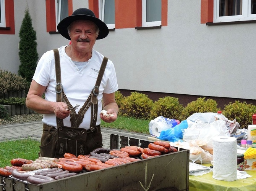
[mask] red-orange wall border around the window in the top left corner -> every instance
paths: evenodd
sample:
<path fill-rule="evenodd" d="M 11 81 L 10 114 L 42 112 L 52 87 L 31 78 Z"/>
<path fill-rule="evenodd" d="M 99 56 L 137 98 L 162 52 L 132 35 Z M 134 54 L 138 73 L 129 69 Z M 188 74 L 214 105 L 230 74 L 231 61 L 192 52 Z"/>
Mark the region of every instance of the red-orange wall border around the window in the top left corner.
<path fill-rule="evenodd" d="M 14 3 L 13 0 L 5 0 L 5 26 L 10 27 L 10 30 L 0 30 L 0 34 L 14 35 Z"/>

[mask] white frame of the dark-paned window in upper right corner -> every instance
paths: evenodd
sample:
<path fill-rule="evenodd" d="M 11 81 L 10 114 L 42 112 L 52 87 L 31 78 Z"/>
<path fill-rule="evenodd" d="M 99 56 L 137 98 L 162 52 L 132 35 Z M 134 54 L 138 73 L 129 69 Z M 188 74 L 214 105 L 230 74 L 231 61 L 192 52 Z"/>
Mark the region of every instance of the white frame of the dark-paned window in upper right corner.
<path fill-rule="evenodd" d="M 251 0 L 242 0 L 242 14 L 235 16 L 218 16 L 220 0 L 214 0 L 213 22 L 236 22 L 255 20 L 256 14 L 251 14 Z"/>

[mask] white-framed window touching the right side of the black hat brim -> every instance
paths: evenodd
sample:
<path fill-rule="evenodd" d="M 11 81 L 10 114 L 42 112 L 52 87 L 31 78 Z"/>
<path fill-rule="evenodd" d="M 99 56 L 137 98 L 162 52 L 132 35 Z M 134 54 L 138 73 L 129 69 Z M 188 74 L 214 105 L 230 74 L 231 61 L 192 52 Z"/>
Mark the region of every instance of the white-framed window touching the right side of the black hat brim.
<path fill-rule="evenodd" d="M 99 18 L 109 29 L 115 28 L 115 0 L 99 0 Z"/>

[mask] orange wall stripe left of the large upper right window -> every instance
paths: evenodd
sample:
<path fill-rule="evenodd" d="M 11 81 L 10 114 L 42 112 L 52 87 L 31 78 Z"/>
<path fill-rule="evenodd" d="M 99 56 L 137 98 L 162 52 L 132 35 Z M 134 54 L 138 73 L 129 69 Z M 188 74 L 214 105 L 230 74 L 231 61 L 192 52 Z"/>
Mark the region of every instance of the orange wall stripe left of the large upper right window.
<path fill-rule="evenodd" d="M 213 0 L 201 0 L 201 24 L 213 22 Z"/>

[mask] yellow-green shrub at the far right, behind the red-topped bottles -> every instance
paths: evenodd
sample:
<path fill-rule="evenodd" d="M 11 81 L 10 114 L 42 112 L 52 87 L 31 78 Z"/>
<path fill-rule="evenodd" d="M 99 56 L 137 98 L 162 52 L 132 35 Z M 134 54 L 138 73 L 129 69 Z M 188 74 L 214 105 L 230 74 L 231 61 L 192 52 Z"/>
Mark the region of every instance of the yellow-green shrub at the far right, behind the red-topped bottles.
<path fill-rule="evenodd" d="M 235 101 L 225 105 L 222 114 L 229 120 L 236 119 L 240 128 L 247 129 L 248 125 L 253 124 L 252 115 L 256 113 L 256 106 L 246 102 Z"/>

